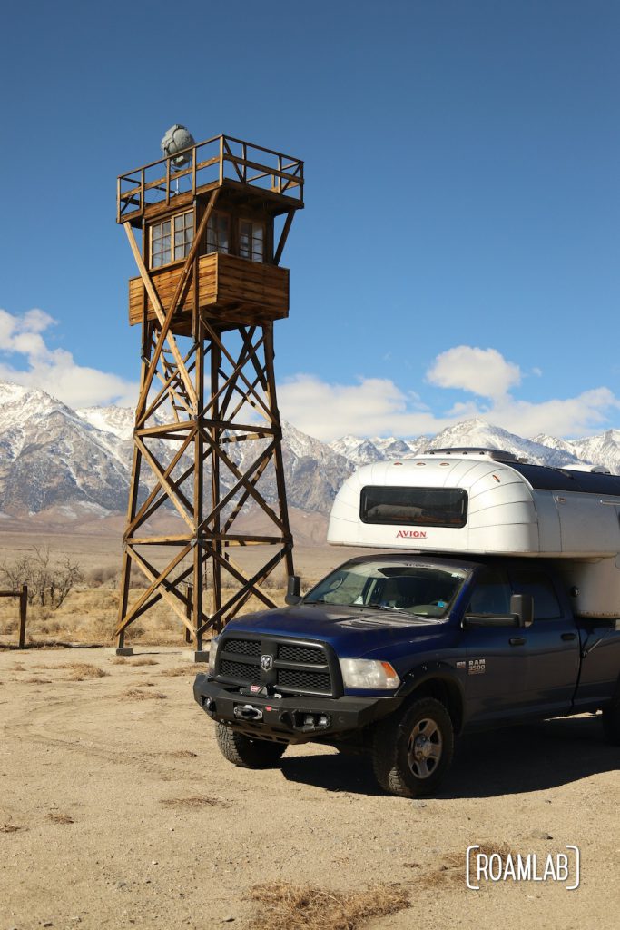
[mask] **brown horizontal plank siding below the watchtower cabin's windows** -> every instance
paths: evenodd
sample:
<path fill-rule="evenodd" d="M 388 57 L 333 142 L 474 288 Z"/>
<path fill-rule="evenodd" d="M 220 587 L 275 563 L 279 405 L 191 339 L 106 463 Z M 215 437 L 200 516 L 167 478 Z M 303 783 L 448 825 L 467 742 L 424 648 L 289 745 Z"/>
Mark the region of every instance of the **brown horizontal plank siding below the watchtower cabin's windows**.
<path fill-rule="evenodd" d="M 150 272 L 152 283 L 167 312 L 178 284 L 183 262 L 157 268 Z M 213 252 L 198 259 L 198 300 L 201 310 L 212 308 L 213 316 L 221 318 L 222 311 L 240 304 L 257 322 L 269 322 L 288 316 L 288 269 L 266 265 L 233 255 Z M 129 280 L 129 324 L 142 322 L 142 308 L 146 292 L 141 278 Z M 188 287 L 176 317 L 184 323 L 193 311 L 194 288 Z M 148 316 L 154 320 L 152 303 L 147 304 Z M 210 315 L 210 314 L 209 314 Z M 173 326 L 174 329 L 174 326 Z"/>

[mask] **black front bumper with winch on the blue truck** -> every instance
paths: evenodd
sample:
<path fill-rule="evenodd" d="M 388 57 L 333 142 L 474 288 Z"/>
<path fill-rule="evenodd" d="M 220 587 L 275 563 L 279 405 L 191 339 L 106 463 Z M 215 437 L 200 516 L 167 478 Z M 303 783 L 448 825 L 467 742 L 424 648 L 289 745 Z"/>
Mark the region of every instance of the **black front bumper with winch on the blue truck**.
<path fill-rule="evenodd" d="M 241 694 L 207 675 L 196 676 L 193 696 L 212 720 L 255 739 L 285 743 L 336 740 L 387 717 L 402 697 L 262 697 Z M 236 711 L 236 712 L 235 712 Z M 310 725 L 307 720 L 312 717 Z M 325 718 L 327 723 L 321 721 Z"/>

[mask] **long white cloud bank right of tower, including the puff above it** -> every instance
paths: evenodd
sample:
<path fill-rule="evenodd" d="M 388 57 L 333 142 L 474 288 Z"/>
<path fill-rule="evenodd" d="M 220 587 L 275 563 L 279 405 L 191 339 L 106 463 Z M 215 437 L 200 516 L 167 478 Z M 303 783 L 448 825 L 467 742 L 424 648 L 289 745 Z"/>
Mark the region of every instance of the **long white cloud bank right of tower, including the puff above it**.
<path fill-rule="evenodd" d="M 455 361 L 452 375 L 448 365 L 451 359 Z M 476 359 L 478 368 L 473 365 Z M 483 362 L 490 368 L 486 375 L 481 373 Z M 361 436 L 436 433 L 476 417 L 521 436 L 539 432 L 580 436 L 604 429 L 610 414 L 620 409 L 620 400 L 605 387 L 540 403 L 519 400 L 508 393 L 508 387 L 520 383 L 519 367 L 507 362 L 495 349 L 457 346 L 442 352 L 427 377 L 433 384 L 460 387 L 488 400 L 458 402 L 438 416 L 422 405 L 415 394 L 405 394 L 389 379 L 361 378 L 356 384 L 336 384 L 301 374 L 279 387 L 280 407 L 284 419 L 297 429 L 326 441 L 348 433 Z"/>

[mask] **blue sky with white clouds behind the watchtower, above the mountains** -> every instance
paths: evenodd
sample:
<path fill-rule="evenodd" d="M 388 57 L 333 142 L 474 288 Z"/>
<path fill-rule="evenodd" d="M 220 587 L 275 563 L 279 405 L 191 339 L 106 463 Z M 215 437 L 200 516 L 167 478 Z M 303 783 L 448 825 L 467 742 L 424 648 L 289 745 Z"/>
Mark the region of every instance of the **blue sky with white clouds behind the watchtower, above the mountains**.
<path fill-rule="evenodd" d="M 305 161 L 275 325 L 321 439 L 620 428 L 615 0 L 25 0 L 0 35 L 0 379 L 131 405 L 116 176 L 165 130 Z"/>

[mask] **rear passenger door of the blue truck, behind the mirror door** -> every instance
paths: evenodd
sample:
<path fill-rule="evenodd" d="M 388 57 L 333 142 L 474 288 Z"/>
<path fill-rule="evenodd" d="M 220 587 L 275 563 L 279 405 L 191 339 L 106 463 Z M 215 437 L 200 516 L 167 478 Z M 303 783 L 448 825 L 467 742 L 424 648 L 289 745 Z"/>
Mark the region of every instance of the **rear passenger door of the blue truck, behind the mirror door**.
<path fill-rule="evenodd" d="M 524 693 L 520 702 L 526 713 L 569 711 L 579 675 L 579 635 L 573 615 L 563 607 L 553 578 L 541 568 L 518 567 L 509 571 L 516 594 L 532 594 L 534 623 L 515 631 L 521 636 L 526 658 Z"/>

